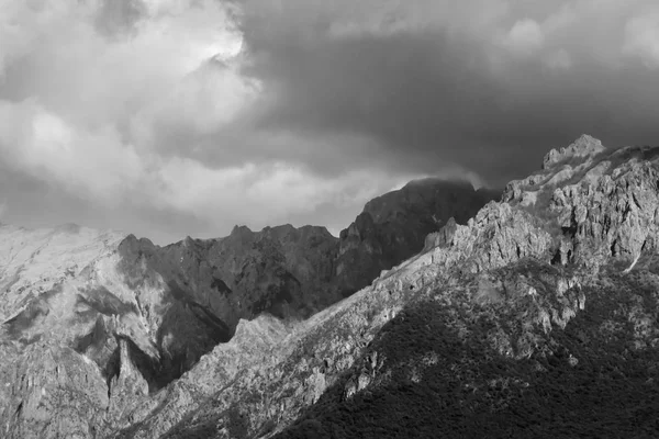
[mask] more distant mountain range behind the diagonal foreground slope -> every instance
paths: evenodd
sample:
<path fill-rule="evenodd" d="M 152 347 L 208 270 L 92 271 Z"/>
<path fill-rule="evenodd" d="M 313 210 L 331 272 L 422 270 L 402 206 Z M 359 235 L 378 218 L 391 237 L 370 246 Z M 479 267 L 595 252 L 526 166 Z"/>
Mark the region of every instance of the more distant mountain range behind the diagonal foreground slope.
<path fill-rule="evenodd" d="M 236 226 L 160 247 L 75 225 L 1 226 L 0 428 L 11 438 L 105 437 L 170 416 L 156 435 L 493 196 L 414 182 L 367 204 L 340 238 L 324 227 Z"/>

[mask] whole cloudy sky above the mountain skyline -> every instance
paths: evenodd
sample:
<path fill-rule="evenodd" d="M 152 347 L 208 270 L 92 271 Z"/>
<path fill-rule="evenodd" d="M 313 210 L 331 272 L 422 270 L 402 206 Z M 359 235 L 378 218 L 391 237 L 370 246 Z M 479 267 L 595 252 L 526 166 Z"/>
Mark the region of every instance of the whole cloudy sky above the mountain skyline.
<path fill-rule="evenodd" d="M 336 234 L 422 177 L 658 144 L 654 0 L 0 0 L 0 222 Z"/>

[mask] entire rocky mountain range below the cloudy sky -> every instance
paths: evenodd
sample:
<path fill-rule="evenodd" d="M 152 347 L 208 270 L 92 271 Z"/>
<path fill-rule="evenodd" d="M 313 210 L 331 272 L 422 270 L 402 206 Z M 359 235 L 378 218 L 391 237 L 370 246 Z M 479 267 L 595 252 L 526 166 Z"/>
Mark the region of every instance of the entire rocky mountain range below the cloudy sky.
<path fill-rule="evenodd" d="M 49 232 L 3 256 L 1 431 L 656 438 L 658 185 L 659 148 L 582 136 L 500 202 L 409 184 L 338 239 Z"/>

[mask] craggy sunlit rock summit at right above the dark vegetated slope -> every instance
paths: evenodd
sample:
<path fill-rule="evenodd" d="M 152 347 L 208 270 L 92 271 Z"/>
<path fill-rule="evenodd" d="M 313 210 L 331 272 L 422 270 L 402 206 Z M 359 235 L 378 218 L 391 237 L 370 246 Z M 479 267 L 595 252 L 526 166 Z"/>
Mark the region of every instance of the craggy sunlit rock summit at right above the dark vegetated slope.
<path fill-rule="evenodd" d="M 434 261 L 478 272 L 533 257 L 596 271 L 611 258 L 629 269 L 641 254 L 654 251 L 659 148 L 606 151 L 599 140 L 581 137 L 560 154 L 587 160 L 548 166 L 511 182 L 502 203 L 488 204 L 467 226 L 437 234 Z"/>

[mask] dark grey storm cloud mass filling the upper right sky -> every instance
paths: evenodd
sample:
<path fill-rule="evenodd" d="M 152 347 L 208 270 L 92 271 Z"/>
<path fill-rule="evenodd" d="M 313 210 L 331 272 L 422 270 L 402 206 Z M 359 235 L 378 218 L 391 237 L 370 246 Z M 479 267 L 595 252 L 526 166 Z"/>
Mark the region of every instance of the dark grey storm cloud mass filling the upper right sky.
<path fill-rule="evenodd" d="M 650 1 L 248 4 L 250 72 L 277 95 L 268 127 L 359 133 L 396 169 L 498 185 L 584 132 L 657 138 Z"/>

